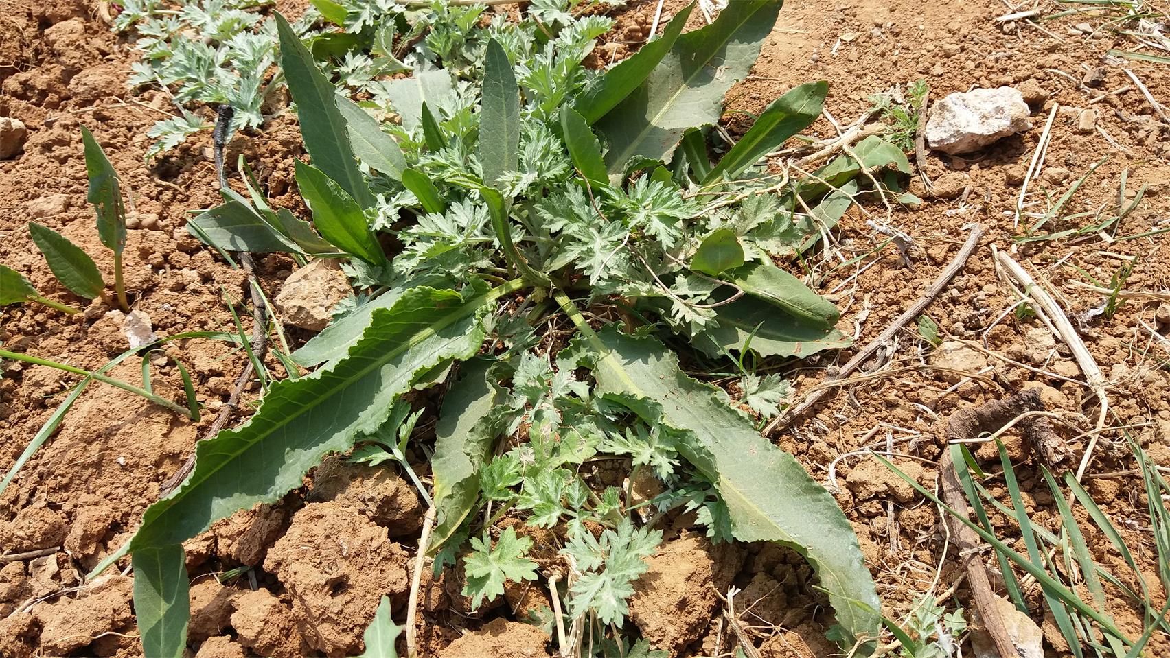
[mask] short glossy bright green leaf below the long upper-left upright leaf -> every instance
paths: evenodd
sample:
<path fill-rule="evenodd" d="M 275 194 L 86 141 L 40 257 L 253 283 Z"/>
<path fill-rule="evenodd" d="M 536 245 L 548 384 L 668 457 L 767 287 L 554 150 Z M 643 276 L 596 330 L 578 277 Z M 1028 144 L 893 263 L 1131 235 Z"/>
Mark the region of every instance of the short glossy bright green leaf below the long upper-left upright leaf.
<path fill-rule="evenodd" d="M 296 185 L 312 210 L 312 223 L 331 244 L 371 265 L 386 262 L 386 254 L 370 230 L 365 214 L 352 196 L 325 172 L 296 161 Z"/>

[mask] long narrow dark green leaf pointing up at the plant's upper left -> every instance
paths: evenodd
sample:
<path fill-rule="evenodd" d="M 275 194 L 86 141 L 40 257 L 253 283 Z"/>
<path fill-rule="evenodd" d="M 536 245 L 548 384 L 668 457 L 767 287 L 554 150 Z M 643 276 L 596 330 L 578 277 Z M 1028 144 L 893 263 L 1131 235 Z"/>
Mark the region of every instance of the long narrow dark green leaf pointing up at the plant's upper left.
<path fill-rule="evenodd" d="M 353 157 L 336 89 L 280 12 L 276 12 L 276 29 L 281 39 L 281 68 L 296 102 L 301 137 L 314 166 L 337 181 L 359 207 L 372 207 L 373 194 Z"/>

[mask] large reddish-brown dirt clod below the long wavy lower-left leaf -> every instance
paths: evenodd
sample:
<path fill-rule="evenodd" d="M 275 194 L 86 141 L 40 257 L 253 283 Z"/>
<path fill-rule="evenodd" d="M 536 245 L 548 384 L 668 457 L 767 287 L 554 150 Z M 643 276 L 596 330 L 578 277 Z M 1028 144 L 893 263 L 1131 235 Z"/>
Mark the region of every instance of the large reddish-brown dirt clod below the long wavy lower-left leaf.
<path fill-rule="evenodd" d="M 309 647 L 331 658 L 362 651 L 378 602 L 393 608 L 410 591 L 408 555 L 386 529 L 342 503 L 310 503 L 264 559 L 292 597 L 292 616 Z"/>

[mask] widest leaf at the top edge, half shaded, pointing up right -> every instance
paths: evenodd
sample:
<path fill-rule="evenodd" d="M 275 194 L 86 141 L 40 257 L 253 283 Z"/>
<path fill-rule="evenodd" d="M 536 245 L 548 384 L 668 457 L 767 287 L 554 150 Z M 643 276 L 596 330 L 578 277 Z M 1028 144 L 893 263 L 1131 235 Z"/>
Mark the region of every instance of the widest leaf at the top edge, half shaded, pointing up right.
<path fill-rule="evenodd" d="M 646 81 L 597 123 L 610 143 L 610 173 L 633 158 L 666 160 L 687 129 L 718 122 L 723 95 L 751 70 L 780 4 L 738 0 L 711 25 L 680 36 Z"/>

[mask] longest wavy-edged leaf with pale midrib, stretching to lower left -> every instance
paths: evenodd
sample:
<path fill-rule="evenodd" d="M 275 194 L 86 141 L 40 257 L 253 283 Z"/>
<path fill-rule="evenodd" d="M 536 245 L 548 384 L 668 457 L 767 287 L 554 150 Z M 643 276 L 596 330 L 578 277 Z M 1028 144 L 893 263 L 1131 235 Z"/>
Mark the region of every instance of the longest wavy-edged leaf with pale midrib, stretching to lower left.
<path fill-rule="evenodd" d="M 358 435 L 377 431 L 394 399 L 419 375 L 449 359 L 474 355 L 483 341 L 490 303 L 519 289 L 482 284 L 461 296 L 417 288 L 373 323 L 328 369 L 274 382 L 243 425 L 195 446 L 195 467 L 171 496 L 151 505 L 131 550 L 180 543 L 215 520 L 257 503 L 275 503 L 301 486 L 304 473 L 330 452 L 347 450 Z"/>

